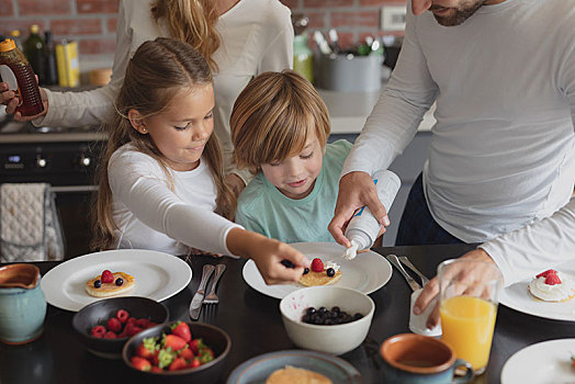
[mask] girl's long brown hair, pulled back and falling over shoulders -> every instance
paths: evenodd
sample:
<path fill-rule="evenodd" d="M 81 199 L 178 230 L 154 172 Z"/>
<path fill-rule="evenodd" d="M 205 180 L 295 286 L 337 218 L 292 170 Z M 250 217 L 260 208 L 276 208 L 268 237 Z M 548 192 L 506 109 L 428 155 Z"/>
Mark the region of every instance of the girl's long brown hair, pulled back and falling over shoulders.
<path fill-rule="evenodd" d="M 149 135 L 143 135 L 132 127 L 127 118 L 134 109 L 143 118 L 166 111 L 174 94 L 182 88 L 212 84 L 212 72 L 205 59 L 191 45 L 174 38 L 158 37 L 145 42 L 129 60 L 124 83 L 115 100 L 116 114 L 109 133 L 108 147 L 99 169 L 98 202 L 95 204 L 93 249 L 109 249 L 116 246 L 119 229 L 112 213 L 112 191 L 108 180 L 108 165 L 112 154 L 126 143 L 139 151 L 154 157 L 164 168 L 170 188 L 173 190 L 171 171 L 164 156 L 156 148 Z M 216 135 L 206 143 L 202 158 L 206 160 L 217 188 L 216 213 L 233 219 L 236 199 L 224 179 L 222 149 Z"/>

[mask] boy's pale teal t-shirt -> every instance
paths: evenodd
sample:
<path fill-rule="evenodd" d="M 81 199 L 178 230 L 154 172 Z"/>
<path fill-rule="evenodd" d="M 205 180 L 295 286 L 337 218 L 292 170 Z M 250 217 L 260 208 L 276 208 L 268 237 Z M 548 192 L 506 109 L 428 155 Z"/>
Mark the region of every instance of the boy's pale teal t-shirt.
<path fill-rule="evenodd" d="M 236 223 L 284 242 L 335 241 L 327 226 L 334 217 L 339 176 L 351 143 L 326 145 L 314 190 L 301 200 L 283 195 L 259 172 L 238 197 Z"/>

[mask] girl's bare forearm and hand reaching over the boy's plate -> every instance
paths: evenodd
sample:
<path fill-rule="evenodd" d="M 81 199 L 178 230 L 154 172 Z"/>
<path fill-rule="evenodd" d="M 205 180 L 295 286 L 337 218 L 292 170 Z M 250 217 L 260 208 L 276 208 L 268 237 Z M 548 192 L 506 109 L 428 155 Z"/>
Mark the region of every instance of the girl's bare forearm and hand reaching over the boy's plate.
<path fill-rule="evenodd" d="M 227 234 L 227 249 L 236 256 L 252 259 L 267 284 L 281 284 L 300 280 L 311 261 L 285 242 L 267 238 L 241 228 Z M 281 261 L 290 260 L 295 268 L 286 268 Z"/>

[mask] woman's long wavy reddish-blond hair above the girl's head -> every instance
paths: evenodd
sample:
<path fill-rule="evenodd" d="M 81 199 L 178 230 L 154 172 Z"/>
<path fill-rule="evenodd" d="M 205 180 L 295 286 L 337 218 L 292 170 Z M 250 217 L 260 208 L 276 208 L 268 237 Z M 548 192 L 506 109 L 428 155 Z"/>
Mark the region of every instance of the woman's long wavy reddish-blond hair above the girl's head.
<path fill-rule="evenodd" d="M 193 46 L 212 70 L 217 70 L 212 58 L 221 44 L 215 29 L 218 15 L 214 0 L 156 0 L 151 4 L 151 16 L 156 22 L 164 19 L 172 37 Z"/>

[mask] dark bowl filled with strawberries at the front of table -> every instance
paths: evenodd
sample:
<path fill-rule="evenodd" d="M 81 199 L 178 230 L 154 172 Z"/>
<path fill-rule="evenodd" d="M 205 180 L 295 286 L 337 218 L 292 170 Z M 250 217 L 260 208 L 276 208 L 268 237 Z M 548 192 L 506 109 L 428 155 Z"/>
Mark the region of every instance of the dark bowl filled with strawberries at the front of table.
<path fill-rule="evenodd" d="M 124 346 L 126 365 L 148 379 L 214 383 L 222 374 L 232 341 L 205 323 L 171 321 L 146 329 Z"/>

